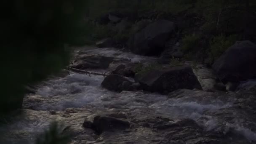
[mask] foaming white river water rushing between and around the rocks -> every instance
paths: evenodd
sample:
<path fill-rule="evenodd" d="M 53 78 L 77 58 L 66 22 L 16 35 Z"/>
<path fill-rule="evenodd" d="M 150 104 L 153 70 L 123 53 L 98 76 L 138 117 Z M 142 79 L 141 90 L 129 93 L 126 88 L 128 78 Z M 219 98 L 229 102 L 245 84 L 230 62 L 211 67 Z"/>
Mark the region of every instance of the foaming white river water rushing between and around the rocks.
<path fill-rule="evenodd" d="M 114 48 L 79 48 L 76 51 L 152 62 Z M 114 67 L 114 66 L 113 66 Z M 109 69 L 90 69 L 107 72 Z M 206 88 L 203 67 L 194 68 Z M 144 91 L 116 93 L 101 87 L 104 76 L 70 72 L 36 85 L 36 94 L 24 99 L 24 109 L 0 128 L 1 144 L 34 144 L 35 136 L 56 120 L 72 133 L 72 144 L 256 144 L 256 114 L 235 92 L 181 89 L 168 95 Z M 242 99 L 242 100 L 241 100 Z M 128 121 L 128 129 L 96 134 L 83 128 L 84 120 L 114 115 Z"/>

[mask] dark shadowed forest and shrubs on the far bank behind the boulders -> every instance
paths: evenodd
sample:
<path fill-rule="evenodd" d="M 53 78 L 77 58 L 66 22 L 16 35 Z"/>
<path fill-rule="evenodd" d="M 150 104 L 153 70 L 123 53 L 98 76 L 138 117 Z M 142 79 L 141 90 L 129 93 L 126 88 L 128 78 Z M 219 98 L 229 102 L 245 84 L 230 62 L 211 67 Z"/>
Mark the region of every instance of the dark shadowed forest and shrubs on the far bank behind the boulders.
<path fill-rule="evenodd" d="M 86 25 L 90 28 L 83 44 L 114 37 L 125 45 L 131 35 L 150 23 L 145 21 L 148 19 L 176 22 L 187 59 L 209 64 L 237 40 L 256 41 L 254 0 L 88 0 L 87 6 Z M 120 32 L 102 22 L 108 13 L 125 17 L 131 24 Z M 204 59 L 199 59 L 202 56 Z"/>

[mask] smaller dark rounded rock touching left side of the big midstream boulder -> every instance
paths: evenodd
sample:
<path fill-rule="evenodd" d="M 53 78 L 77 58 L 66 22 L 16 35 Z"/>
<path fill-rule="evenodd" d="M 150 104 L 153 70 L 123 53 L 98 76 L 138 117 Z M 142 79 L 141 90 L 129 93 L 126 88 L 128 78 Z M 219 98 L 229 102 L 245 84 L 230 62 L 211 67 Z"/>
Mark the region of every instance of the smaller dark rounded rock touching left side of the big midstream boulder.
<path fill-rule="evenodd" d="M 101 86 L 109 91 L 129 91 L 133 83 L 121 75 L 108 75 L 105 77 Z"/>

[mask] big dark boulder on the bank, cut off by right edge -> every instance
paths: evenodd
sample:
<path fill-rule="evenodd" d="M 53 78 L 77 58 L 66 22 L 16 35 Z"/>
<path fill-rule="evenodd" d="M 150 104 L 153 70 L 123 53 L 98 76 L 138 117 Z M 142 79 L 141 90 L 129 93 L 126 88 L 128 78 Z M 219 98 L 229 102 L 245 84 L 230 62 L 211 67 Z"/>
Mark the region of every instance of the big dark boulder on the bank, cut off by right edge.
<path fill-rule="evenodd" d="M 256 44 L 237 41 L 214 62 L 213 69 L 224 84 L 256 78 Z"/>

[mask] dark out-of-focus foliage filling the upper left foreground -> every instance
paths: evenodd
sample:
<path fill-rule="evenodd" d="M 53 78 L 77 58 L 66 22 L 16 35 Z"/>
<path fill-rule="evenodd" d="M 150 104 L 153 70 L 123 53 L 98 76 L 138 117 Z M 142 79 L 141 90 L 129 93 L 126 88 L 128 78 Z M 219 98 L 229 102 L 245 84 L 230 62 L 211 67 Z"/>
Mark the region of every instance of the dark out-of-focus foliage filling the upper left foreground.
<path fill-rule="evenodd" d="M 24 85 L 69 62 L 86 0 L 2 0 L 0 112 L 20 108 Z"/>

